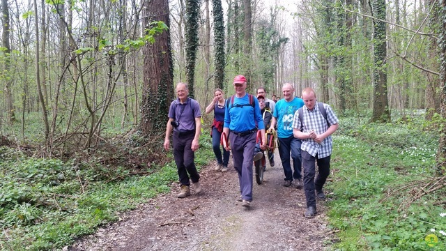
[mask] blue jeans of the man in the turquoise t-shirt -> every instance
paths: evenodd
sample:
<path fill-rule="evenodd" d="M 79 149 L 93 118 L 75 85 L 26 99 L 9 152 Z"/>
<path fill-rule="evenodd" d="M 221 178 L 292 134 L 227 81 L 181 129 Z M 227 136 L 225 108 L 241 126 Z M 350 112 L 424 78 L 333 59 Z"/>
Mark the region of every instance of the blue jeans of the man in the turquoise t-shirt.
<path fill-rule="evenodd" d="M 279 139 L 279 155 L 282 160 L 282 167 L 284 167 L 285 181 L 293 181 L 293 178 L 300 180 L 302 178 L 302 157 L 300 155 L 300 145 L 302 141 L 295 138 L 293 135 L 287 138 Z M 293 159 L 293 170 L 291 170 L 291 159 Z"/>

